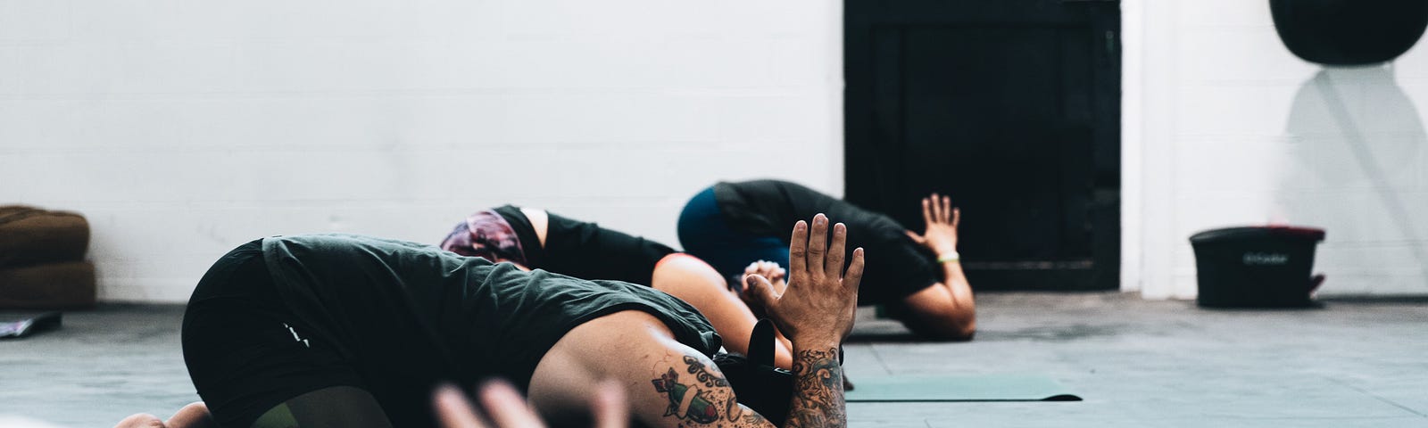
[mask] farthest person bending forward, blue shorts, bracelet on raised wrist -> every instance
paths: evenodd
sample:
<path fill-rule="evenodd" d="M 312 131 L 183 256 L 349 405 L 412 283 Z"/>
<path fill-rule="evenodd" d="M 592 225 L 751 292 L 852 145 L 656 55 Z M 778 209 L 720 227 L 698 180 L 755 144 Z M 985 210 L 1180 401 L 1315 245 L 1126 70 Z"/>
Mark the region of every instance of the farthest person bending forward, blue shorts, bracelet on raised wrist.
<path fill-rule="evenodd" d="M 685 204 L 680 244 L 714 265 L 730 284 L 750 272 L 777 278 L 777 268 L 764 261 L 787 265 L 788 240 L 783 231 L 814 213 L 848 224 L 850 245 L 874 254 L 858 304 L 885 305 L 892 317 L 928 338 L 972 338 L 972 290 L 957 253 L 961 213 L 947 197 L 922 200 L 925 231 L 917 234 L 887 215 L 795 183 L 718 183 Z"/>

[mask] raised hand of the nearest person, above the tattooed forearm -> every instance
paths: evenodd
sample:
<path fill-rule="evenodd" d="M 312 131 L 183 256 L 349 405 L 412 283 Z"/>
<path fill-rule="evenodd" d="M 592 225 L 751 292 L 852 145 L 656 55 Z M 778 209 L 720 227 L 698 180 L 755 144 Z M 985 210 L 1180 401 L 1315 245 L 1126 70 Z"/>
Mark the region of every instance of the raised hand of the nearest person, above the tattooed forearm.
<path fill-rule="evenodd" d="M 837 347 L 853 331 L 864 261 L 863 248 L 857 248 L 844 271 L 847 240 L 848 228 L 840 223 L 833 225 L 830 243 L 828 217 L 814 215 L 811 233 L 804 221 L 794 225 L 788 244 L 790 281 L 783 292 L 764 275 L 745 275 L 748 292 L 795 348 L 800 342 Z"/>

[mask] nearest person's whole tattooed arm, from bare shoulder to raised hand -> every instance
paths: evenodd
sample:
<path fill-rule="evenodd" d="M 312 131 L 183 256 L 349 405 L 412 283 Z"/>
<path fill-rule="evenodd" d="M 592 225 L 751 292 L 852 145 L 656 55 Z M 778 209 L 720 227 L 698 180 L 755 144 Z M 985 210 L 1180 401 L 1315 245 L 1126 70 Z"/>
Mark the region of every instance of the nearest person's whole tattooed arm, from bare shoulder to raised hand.
<path fill-rule="evenodd" d="M 833 228 L 831 245 L 825 244 L 827 217 L 814 217 L 811 235 L 808 228 L 804 221 L 794 227 L 793 281 L 781 295 L 764 277 L 750 275 L 748 281 L 793 341 L 795 381 L 784 425 L 844 427 L 837 355 L 838 344 L 853 330 L 863 251 L 853 251 L 844 275 L 847 228 Z M 643 311 L 600 317 L 561 337 L 536 367 L 530 401 L 543 417 L 563 419 L 563 414 L 590 408 L 595 385 L 607 378 L 624 385 L 631 415 L 650 427 L 773 427 L 738 404 L 708 357 L 675 341 L 664 322 Z"/>

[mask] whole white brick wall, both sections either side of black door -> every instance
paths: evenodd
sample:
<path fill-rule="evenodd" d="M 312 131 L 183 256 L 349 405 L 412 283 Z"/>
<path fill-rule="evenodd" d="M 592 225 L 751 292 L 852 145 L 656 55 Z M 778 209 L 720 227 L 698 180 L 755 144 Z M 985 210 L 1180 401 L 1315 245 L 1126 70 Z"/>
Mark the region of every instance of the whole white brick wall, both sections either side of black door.
<path fill-rule="evenodd" d="M 501 203 L 675 244 L 714 180 L 841 193 L 840 7 L 0 0 L 0 203 L 87 214 L 104 300 Z M 1267 1 L 1122 7 L 1124 290 L 1194 297 L 1190 234 L 1277 221 L 1328 230 L 1325 294 L 1428 294 L 1424 49 L 1319 74 Z"/>

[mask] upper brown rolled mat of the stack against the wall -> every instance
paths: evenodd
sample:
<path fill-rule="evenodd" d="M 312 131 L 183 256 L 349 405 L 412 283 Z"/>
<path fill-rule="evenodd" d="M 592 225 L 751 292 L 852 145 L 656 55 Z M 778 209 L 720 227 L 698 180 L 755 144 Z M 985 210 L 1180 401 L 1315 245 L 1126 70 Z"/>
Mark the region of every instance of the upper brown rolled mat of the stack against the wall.
<path fill-rule="evenodd" d="M 77 213 L 3 205 L 0 268 L 81 261 L 89 237 L 89 221 Z"/>

